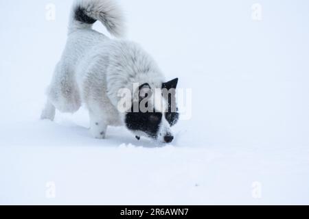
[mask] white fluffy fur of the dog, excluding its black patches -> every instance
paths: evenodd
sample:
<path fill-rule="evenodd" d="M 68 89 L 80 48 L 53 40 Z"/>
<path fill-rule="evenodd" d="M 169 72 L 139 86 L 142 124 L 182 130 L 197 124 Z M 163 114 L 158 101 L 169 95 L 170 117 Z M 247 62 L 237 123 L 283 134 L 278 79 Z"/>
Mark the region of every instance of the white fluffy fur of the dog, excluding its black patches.
<path fill-rule="evenodd" d="M 164 77 L 152 57 L 139 45 L 111 40 L 91 29 L 92 25 L 76 21 L 77 6 L 101 21 L 111 34 L 123 33 L 122 14 L 114 1 L 75 1 L 65 51 L 47 90 L 48 100 L 41 118 L 54 120 L 56 109 L 74 113 L 84 103 L 89 109 L 93 137 L 104 138 L 108 125 L 124 125 L 124 114 L 117 110 L 118 91 L 128 88 L 136 92 L 133 83 L 149 83 L 152 89 L 161 88 Z M 171 133 L 166 121 L 162 126 L 160 136 Z"/>

